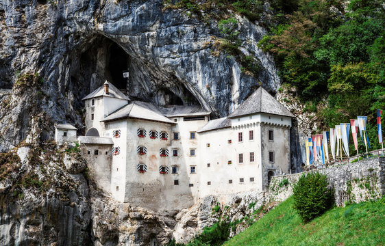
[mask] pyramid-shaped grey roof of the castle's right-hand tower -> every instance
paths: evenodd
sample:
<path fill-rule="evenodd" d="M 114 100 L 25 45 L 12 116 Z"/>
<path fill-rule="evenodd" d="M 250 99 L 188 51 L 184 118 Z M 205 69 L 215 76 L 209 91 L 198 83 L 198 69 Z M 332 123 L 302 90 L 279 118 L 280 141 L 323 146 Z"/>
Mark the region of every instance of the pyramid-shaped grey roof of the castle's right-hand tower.
<path fill-rule="evenodd" d="M 229 114 L 229 118 L 236 118 L 253 113 L 271 113 L 275 115 L 284 115 L 294 117 L 284 105 L 280 104 L 269 92 L 261 87 L 247 98 L 234 112 Z"/>

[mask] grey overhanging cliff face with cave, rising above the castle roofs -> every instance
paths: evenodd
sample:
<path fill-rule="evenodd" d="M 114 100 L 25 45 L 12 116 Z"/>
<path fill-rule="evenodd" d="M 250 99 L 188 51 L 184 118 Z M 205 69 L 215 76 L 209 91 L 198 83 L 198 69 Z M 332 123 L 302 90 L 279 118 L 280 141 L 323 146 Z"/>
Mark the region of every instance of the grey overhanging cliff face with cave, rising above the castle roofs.
<path fill-rule="evenodd" d="M 277 90 L 280 79 L 273 59 L 256 45 L 266 32 L 262 27 L 236 16 L 240 51 L 253 54 L 260 67 L 256 74 L 245 73 L 236 57 L 215 48 L 222 38 L 216 21 L 165 9 L 163 2 L 2 1 L 0 89 L 12 88 L 20 74 L 38 72 L 42 83 L 34 90 L 42 97 L 41 110 L 50 120 L 79 126 L 82 97 L 105 79 L 127 89 L 131 98 L 199 103 L 217 116 L 234 110 L 261 84 Z M 129 71 L 128 81 L 124 70 Z M 2 100 L 15 97 L 12 92 Z M 16 145 L 32 128 L 23 105 L 27 98 L 17 99 L 21 105 L 11 103 L 1 112 L 2 145 Z"/>

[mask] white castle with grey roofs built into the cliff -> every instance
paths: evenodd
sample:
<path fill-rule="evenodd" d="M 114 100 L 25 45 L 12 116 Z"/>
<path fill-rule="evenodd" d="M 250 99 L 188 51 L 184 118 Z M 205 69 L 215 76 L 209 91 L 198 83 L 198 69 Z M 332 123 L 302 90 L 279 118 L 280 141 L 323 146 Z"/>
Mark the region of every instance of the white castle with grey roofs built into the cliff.
<path fill-rule="evenodd" d="M 206 195 L 263 191 L 271 176 L 290 172 L 294 116 L 262 87 L 216 120 L 199 106 L 129 100 L 107 81 L 83 100 L 82 155 L 119 202 L 179 210 Z M 75 130 L 56 131 L 61 142 Z"/>

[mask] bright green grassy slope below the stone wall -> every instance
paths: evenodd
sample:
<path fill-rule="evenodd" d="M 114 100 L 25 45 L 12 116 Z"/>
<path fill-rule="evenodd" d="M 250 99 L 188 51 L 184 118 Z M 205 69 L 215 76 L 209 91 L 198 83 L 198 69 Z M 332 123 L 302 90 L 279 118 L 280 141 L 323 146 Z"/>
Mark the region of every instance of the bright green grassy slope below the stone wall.
<path fill-rule="evenodd" d="M 303 224 L 293 197 L 224 245 L 385 245 L 385 197 L 333 208 Z"/>

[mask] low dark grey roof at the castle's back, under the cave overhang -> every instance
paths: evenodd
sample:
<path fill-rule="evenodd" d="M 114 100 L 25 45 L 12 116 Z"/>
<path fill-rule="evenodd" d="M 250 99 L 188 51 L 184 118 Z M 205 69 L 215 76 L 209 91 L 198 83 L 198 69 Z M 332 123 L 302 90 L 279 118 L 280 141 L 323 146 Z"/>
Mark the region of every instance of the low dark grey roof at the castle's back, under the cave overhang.
<path fill-rule="evenodd" d="M 198 116 L 198 115 L 210 115 L 211 112 L 202 109 L 201 106 L 182 106 L 182 105 L 173 105 L 173 106 L 164 106 L 159 107 L 159 110 L 166 117 L 182 117 L 182 116 Z"/>

